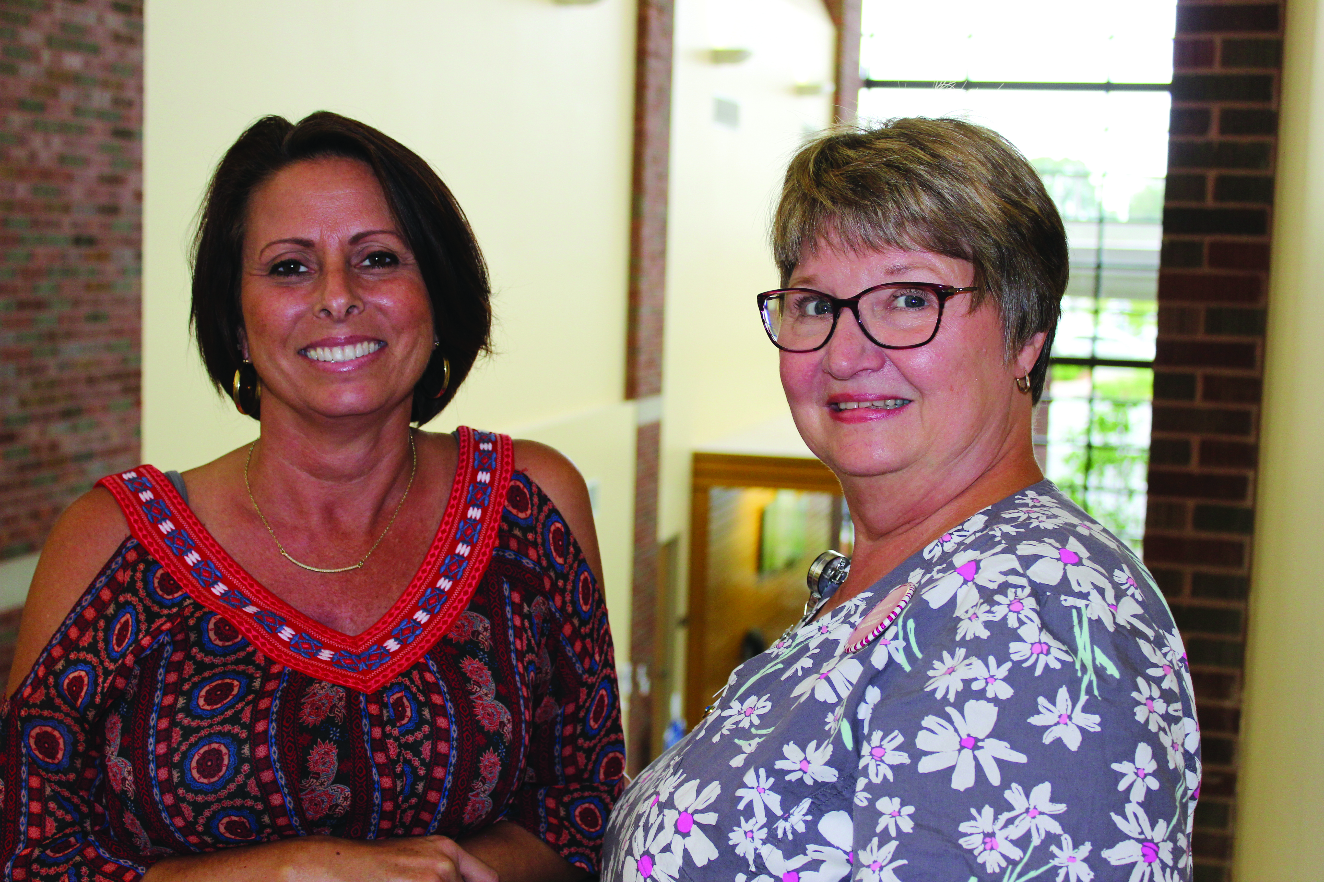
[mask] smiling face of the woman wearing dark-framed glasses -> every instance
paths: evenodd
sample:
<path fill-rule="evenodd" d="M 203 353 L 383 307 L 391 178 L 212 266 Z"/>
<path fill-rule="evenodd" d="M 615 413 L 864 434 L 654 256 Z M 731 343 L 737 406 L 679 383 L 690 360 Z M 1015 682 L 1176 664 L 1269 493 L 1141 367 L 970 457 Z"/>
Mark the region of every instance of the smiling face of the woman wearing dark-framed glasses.
<path fill-rule="evenodd" d="M 965 287 L 974 267 L 931 251 L 841 251 L 830 243 L 804 255 L 789 287 L 850 298 L 884 282 Z M 907 473 L 922 485 L 973 480 L 1022 439 L 1030 398 L 1016 390 L 1042 335 L 1010 362 L 992 298 L 970 312 L 969 294 L 947 301 L 933 340 L 883 349 L 842 311 L 817 352 L 781 353 L 781 383 L 801 436 L 841 477 Z"/>

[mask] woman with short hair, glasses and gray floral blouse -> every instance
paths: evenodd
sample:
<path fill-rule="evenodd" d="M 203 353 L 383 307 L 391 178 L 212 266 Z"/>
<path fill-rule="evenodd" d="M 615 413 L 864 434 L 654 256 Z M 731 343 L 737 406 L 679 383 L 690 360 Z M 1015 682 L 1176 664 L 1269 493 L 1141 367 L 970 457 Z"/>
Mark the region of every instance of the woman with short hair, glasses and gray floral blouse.
<path fill-rule="evenodd" d="M 1200 734 L 1139 558 L 1043 480 L 1067 282 L 1029 163 L 956 119 L 813 140 L 760 294 L 849 574 L 630 785 L 605 877 L 1189 879 Z"/>

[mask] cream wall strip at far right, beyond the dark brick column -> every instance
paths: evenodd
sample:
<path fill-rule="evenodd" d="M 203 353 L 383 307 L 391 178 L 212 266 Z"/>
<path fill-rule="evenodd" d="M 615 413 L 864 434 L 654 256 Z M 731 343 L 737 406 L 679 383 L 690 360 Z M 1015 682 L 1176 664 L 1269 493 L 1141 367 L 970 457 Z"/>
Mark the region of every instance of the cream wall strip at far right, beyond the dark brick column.
<path fill-rule="evenodd" d="M 1324 866 L 1324 16 L 1287 9 L 1274 262 L 1264 344 L 1263 443 L 1255 513 L 1235 878 L 1307 882 Z"/>

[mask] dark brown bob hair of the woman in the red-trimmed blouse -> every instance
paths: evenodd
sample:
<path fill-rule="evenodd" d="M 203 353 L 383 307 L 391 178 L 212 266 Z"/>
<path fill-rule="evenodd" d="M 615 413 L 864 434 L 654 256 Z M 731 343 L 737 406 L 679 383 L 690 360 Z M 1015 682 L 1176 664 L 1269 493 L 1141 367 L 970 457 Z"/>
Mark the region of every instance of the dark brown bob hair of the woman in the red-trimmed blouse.
<path fill-rule="evenodd" d="M 339 114 L 320 111 L 298 124 L 281 116 L 260 119 L 217 165 L 193 242 L 192 328 L 203 364 L 217 389 L 230 395 L 242 361 L 240 279 L 253 193 L 289 165 L 332 156 L 359 160 L 372 169 L 428 288 L 441 345 L 414 385 L 409 415 L 425 423 L 450 402 L 474 361 L 489 350 L 487 264 L 459 204 L 428 163 L 376 128 Z M 442 356 L 450 360 L 450 382 L 436 398 L 444 382 Z M 260 402 L 245 395 L 242 403 L 257 419 Z"/>

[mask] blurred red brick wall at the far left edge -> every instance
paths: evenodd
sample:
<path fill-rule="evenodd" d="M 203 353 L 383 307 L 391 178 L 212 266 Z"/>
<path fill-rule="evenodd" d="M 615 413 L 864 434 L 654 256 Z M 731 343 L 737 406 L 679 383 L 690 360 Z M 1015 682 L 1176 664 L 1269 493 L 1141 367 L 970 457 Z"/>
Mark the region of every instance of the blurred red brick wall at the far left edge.
<path fill-rule="evenodd" d="M 0 3 L 0 559 L 138 461 L 142 37 L 140 3 Z"/>

